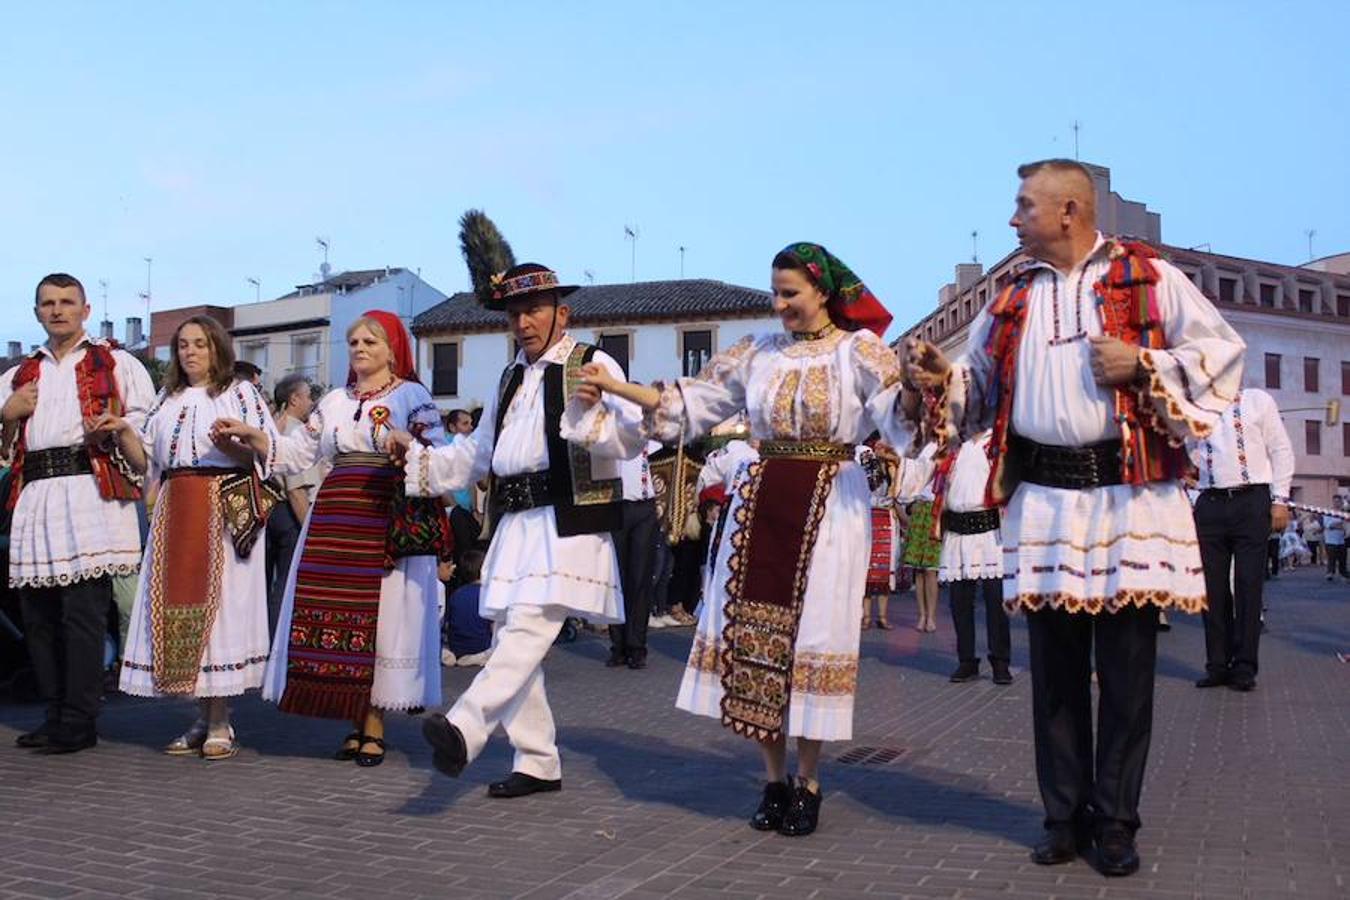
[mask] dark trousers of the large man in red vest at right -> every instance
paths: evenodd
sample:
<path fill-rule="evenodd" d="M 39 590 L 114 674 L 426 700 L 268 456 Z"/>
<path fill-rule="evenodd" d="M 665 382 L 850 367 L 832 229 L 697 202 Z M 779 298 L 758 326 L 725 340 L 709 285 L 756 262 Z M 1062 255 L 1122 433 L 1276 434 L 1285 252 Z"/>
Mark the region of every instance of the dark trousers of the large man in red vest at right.
<path fill-rule="evenodd" d="M 1153 734 L 1158 609 L 1040 610 L 1026 617 L 1031 650 L 1035 777 L 1045 826 L 1139 827 Z M 1098 723 L 1092 739 L 1092 660 Z"/>

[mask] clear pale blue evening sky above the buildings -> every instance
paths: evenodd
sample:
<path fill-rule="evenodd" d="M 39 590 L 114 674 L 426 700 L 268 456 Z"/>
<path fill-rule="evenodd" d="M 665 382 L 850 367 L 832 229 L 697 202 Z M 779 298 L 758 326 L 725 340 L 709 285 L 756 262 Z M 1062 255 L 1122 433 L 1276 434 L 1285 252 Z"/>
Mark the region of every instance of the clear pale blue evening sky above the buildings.
<path fill-rule="evenodd" d="M 752 286 L 825 243 L 906 325 L 1013 248 L 1019 162 L 1080 155 L 1164 240 L 1350 250 L 1346 3 L 128 3 L 9 7 L 0 340 L 32 286 L 119 321 L 408 266 L 466 286 L 481 206 L 579 281 Z M 96 314 L 101 309 L 96 306 Z"/>

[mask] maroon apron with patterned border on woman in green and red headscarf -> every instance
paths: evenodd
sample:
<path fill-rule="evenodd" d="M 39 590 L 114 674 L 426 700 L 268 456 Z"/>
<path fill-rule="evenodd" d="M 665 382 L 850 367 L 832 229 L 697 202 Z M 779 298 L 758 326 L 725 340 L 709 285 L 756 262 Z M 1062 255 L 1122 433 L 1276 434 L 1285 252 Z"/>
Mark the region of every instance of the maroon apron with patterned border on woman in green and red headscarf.
<path fill-rule="evenodd" d="M 722 725 L 737 734 L 772 741 L 784 731 L 806 572 L 838 467 L 765 459 L 737 487 L 721 660 Z"/>

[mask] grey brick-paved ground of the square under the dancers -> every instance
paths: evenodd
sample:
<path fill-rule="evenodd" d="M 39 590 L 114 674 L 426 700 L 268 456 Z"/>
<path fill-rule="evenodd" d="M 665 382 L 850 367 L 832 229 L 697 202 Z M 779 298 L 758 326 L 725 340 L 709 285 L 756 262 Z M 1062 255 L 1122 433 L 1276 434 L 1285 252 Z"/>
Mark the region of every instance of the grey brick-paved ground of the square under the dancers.
<path fill-rule="evenodd" d="M 1161 636 L 1143 868 L 1027 860 L 1041 831 L 1026 629 L 1017 683 L 949 684 L 949 622 L 921 637 L 913 595 L 864 636 L 856 737 L 832 745 L 821 830 L 745 826 L 757 754 L 674 708 L 688 629 L 653 631 L 643 672 L 583 636 L 551 654 L 564 791 L 490 800 L 497 738 L 460 780 L 431 768 L 416 719 L 390 719 L 377 769 L 328 758 L 340 723 L 238 703 L 239 757 L 158 746 L 185 702 L 109 699 L 97 749 L 12 746 L 35 706 L 0 707 L 0 897 L 1332 897 L 1350 896 L 1350 586 L 1270 582 L 1256 692 L 1197 691 L 1199 618 Z M 983 618 L 983 617 L 981 617 Z M 983 640 L 983 627 L 981 627 Z M 454 698 L 477 669 L 447 671 Z M 859 748 L 891 761 L 845 764 Z M 857 756 L 855 753 L 853 756 Z M 891 753 L 872 754 L 873 760 Z"/>

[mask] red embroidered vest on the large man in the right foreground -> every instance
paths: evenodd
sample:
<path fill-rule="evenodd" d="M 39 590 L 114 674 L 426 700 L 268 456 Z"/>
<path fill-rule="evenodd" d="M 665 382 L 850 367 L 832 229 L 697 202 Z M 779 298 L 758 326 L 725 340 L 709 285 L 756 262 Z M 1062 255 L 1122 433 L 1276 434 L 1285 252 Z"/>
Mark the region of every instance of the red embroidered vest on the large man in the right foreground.
<path fill-rule="evenodd" d="M 1162 316 L 1158 308 L 1157 258 L 1148 244 L 1111 240 L 1110 267 L 1095 285 L 1102 331 L 1108 337 L 1145 349 L 1162 349 Z M 986 397 L 994 398 L 994 432 L 990 439 L 990 480 L 984 488 L 988 506 L 1007 503 L 1017 487 L 1008 479 L 1007 447 L 1013 420 L 1018 351 L 1026 332 L 1027 300 L 1034 271 L 1014 278 L 990 308 L 994 318 L 984 351 L 992 360 Z M 1185 448 L 1169 439 L 1166 422 L 1149 402 L 1149 387 L 1120 385 L 1115 389 L 1114 418 L 1120 429 L 1120 476 L 1126 484 L 1165 482 L 1181 478 L 1189 466 Z"/>

